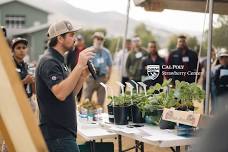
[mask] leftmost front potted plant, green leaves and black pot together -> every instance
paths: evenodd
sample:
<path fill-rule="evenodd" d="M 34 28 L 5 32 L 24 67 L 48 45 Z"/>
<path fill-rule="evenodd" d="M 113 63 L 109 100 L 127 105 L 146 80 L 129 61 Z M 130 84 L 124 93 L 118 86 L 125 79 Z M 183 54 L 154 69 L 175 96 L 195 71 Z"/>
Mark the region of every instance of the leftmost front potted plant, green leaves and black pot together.
<path fill-rule="evenodd" d="M 114 96 L 109 98 L 112 100 L 114 123 L 117 125 L 127 125 L 129 105 L 131 102 L 128 96 Z"/>

